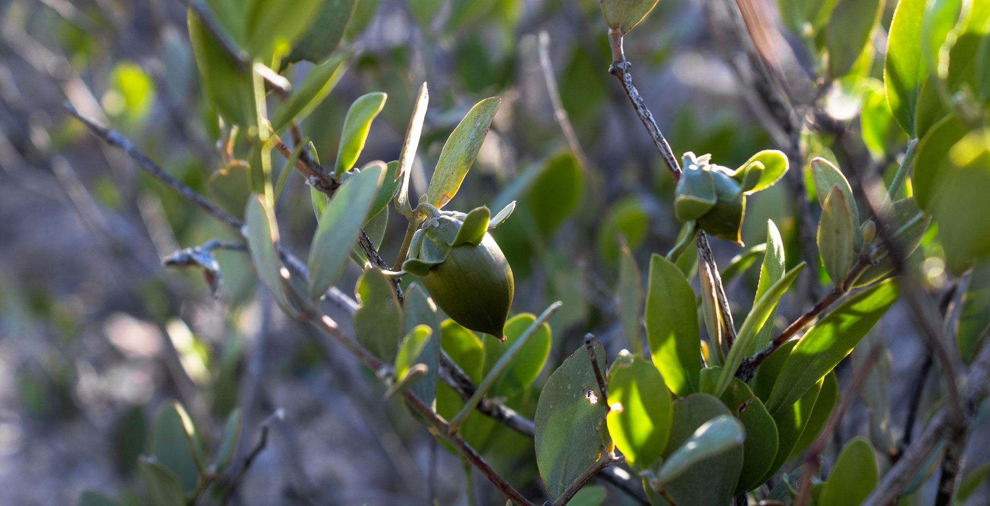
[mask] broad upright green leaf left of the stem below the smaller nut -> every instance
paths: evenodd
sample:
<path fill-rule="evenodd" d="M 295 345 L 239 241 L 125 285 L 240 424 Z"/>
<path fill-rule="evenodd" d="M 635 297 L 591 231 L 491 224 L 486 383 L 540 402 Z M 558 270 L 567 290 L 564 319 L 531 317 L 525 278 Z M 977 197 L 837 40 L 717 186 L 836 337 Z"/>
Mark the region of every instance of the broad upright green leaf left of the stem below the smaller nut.
<path fill-rule="evenodd" d="M 677 396 L 698 391 L 701 337 L 694 296 L 680 269 L 654 253 L 646 289 L 646 341 L 653 364 Z"/>

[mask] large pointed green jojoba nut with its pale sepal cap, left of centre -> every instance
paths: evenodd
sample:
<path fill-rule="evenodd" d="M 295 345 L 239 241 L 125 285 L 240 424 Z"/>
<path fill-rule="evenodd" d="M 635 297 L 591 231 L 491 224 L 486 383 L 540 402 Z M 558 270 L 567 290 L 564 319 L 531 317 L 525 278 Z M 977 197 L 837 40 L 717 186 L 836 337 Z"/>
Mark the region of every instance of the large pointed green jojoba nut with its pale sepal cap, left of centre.
<path fill-rule="evenodd" d="M 467 214 L 435 210 L 414 234 L 403 270 L 423 278 L 424 288 L 453 321 L 504 340 L 515 281 L 488 233 L 488 208 Z"/>

